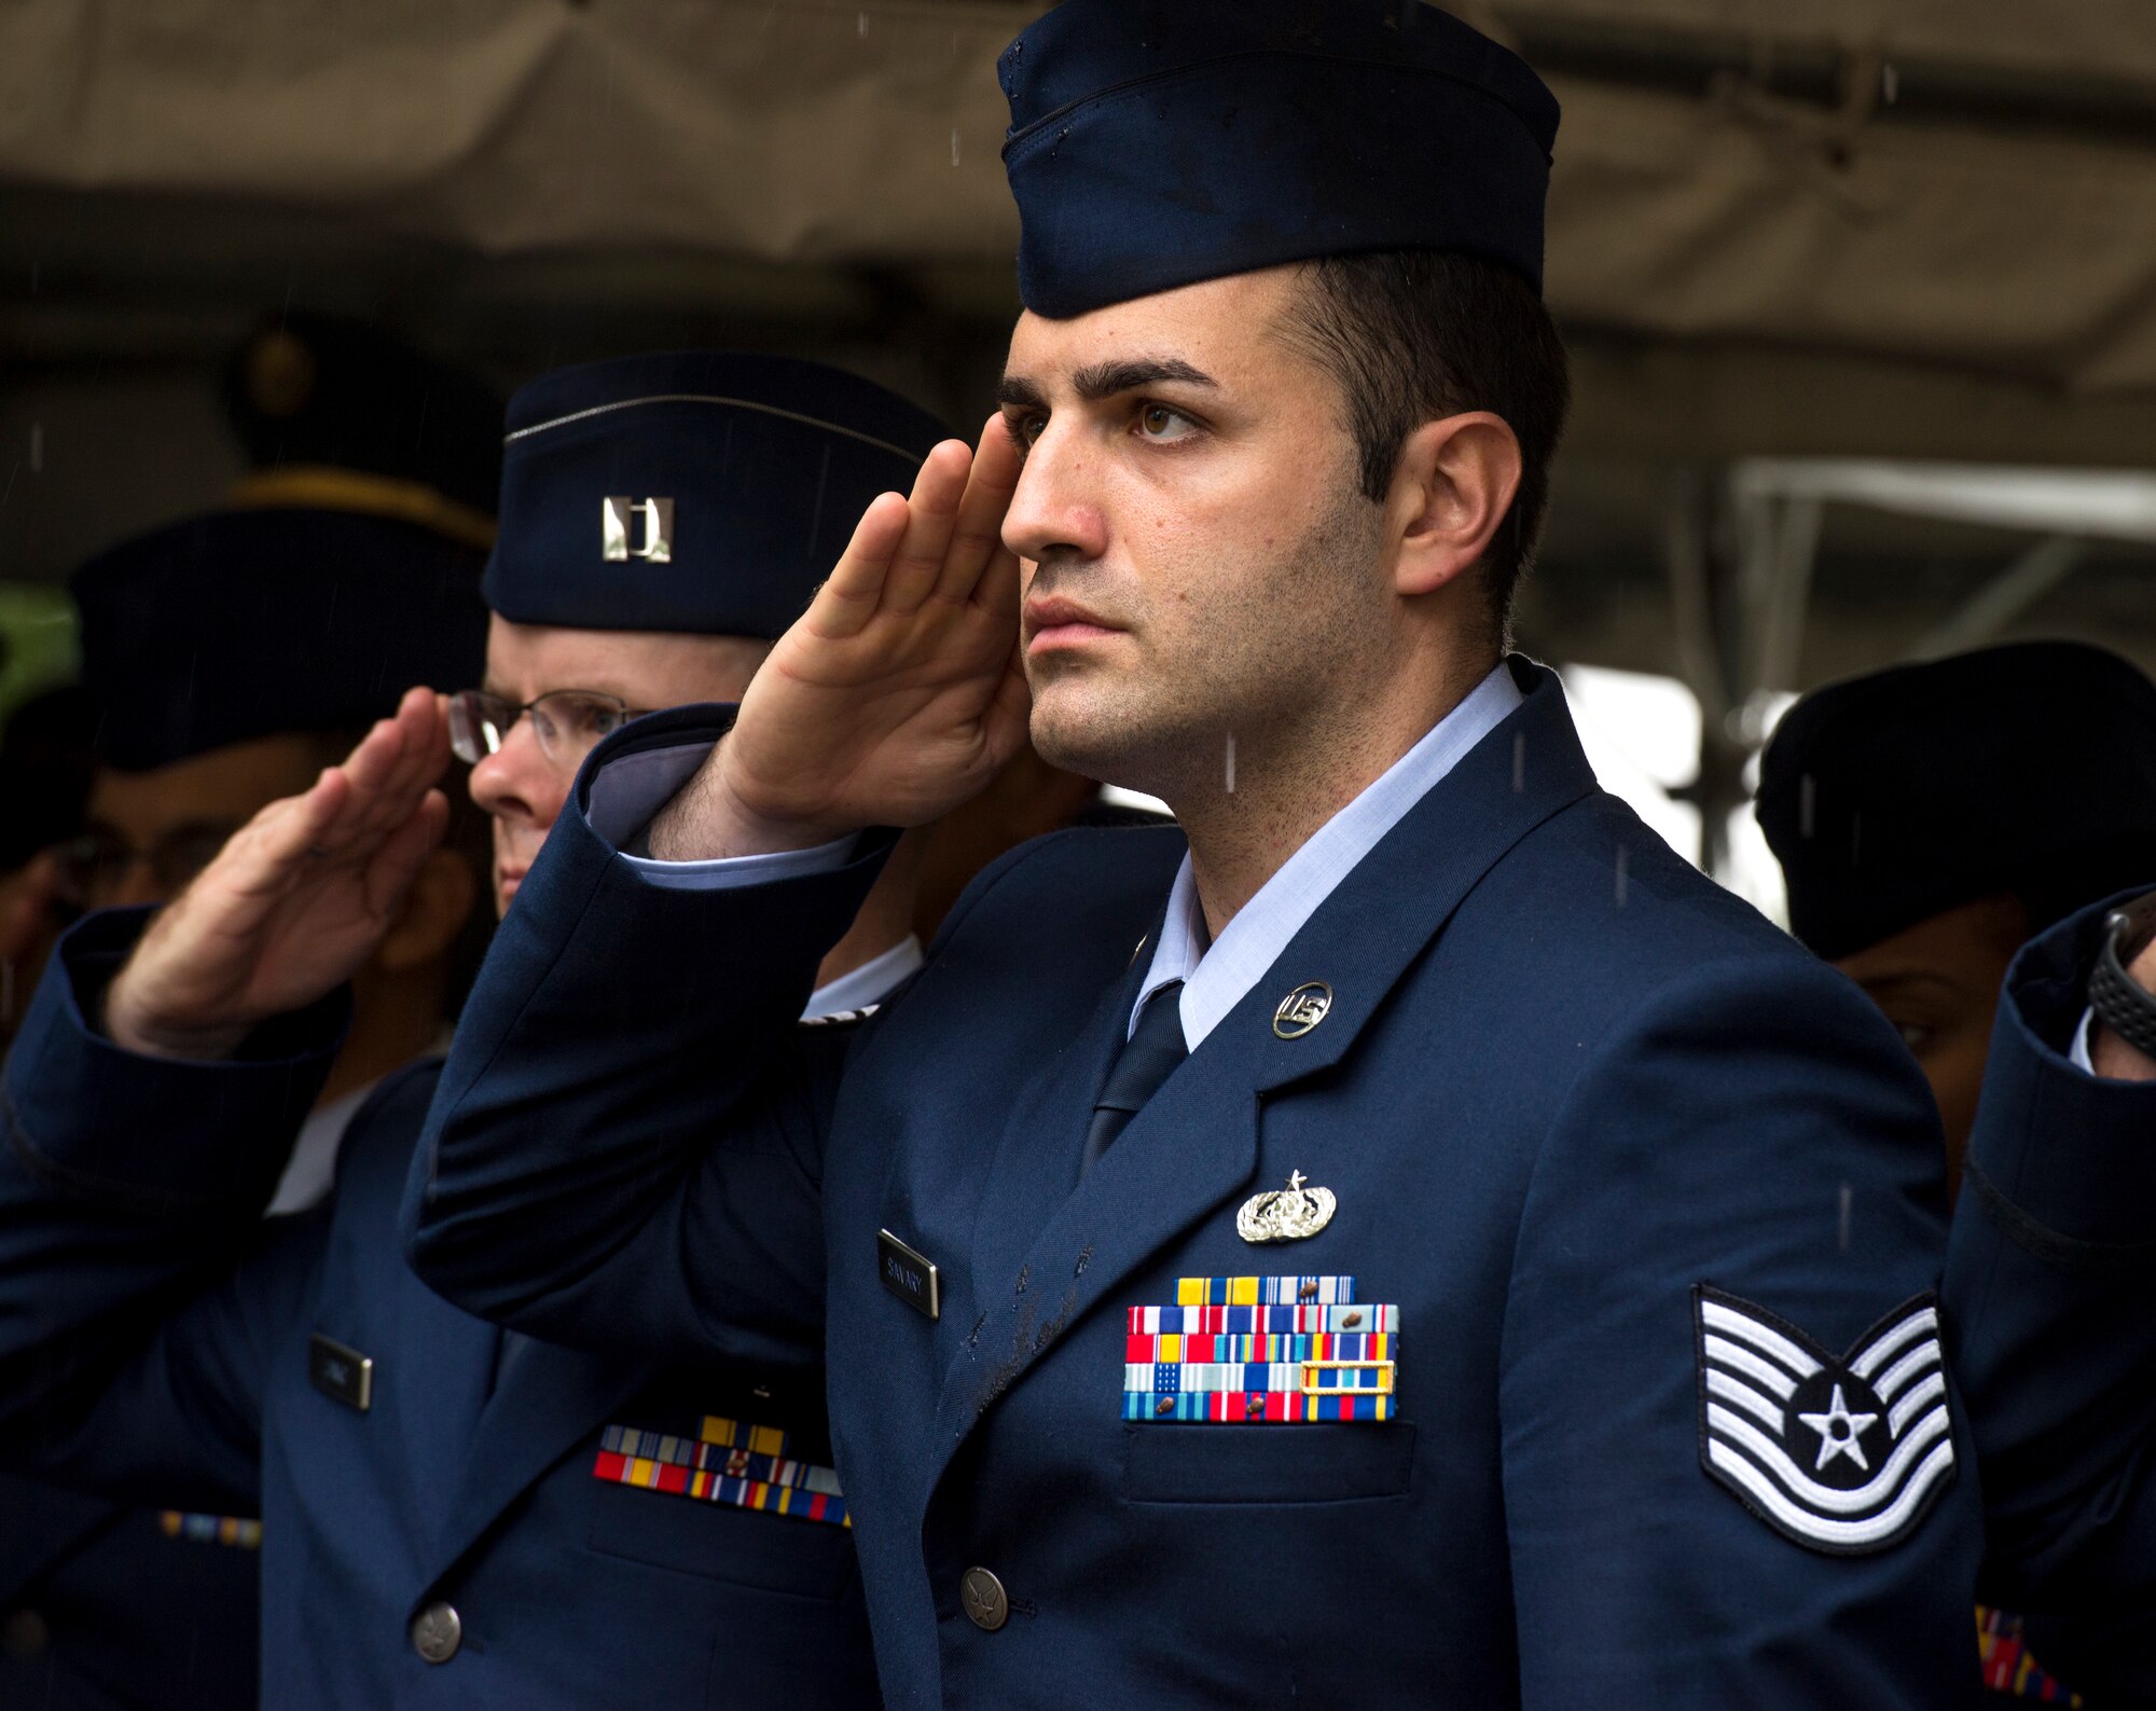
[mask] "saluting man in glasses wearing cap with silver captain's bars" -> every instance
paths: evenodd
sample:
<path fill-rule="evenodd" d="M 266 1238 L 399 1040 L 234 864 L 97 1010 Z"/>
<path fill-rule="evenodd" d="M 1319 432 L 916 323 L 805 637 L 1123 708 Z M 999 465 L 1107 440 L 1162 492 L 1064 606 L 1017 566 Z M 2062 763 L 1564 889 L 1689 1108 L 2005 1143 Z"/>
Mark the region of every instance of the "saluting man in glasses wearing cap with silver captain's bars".
<path fill-rule="evenodd" d="M 537 381 L 509 412 L 483 687 L 451 718 L 412 690 L 155 922 L 93 914 L 60 942 L 9 1065 L 0 1446 L 93 1489 L 259 1498 L 263 1705 L 526 1711 L 630 1683 L 653 1709 L 877 1700 L 802 1338 L 662 1366 L 634 1338 L 571 1353 L 431 1295 L 397 1211 L 438 1060 L 373 1095 L 319 1209 L 257 1213 L 330 1073 L 343 983 L 440 838 L 451 741 L 515 933 L 584 752 L 638 709 L 740 696 L 852 517 L 940 437 L 811 362 Z M 388 838 L 364 806 L 384 789 L 425 799 Z M 798 1004 L 903 978 L 910 907 L 901 862 Z M 774 1293 L 815 1263 L 774 1248 Z"/>

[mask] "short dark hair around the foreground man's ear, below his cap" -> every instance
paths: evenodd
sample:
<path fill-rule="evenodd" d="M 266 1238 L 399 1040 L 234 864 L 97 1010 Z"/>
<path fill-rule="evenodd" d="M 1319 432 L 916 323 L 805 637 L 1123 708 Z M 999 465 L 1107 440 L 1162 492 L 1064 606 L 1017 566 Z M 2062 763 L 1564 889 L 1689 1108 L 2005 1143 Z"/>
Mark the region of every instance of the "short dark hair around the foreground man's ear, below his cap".
<path fill-rule="evenodd" d="M 1520 491 L 1483 554 L 1498 644 L 1550 500 L 1572 375 L 1557 323 L 1509 267 L 1445 250 L 1373 250 L 1302 263 L 1304 310 L 1289 336 L 1341 384 L 1363 496 L 1382 500 L 1423 422 L 1488 409 L 1520 442 Z"/>

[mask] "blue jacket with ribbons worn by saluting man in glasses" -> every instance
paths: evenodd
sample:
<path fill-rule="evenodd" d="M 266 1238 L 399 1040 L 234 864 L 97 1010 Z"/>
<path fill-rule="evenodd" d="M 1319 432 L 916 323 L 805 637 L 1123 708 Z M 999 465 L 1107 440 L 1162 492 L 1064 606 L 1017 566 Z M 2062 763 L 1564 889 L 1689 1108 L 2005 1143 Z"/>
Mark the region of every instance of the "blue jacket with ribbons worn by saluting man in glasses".
<path fill-rule="evenodd" d="M 263 1224 L 338 1004 L 246 1062 L 132 1056 L 86 1013 L 138 924 L 73 929 L 9 1065 L 0 1452 L 108 1498 L 259 1502 L 278 1711 L 875 1705 L 813 1351 L 578 1353 L 425 1289 L 397 1207 L 438 1060 L 354 1118 L 323 1207 Z"/>

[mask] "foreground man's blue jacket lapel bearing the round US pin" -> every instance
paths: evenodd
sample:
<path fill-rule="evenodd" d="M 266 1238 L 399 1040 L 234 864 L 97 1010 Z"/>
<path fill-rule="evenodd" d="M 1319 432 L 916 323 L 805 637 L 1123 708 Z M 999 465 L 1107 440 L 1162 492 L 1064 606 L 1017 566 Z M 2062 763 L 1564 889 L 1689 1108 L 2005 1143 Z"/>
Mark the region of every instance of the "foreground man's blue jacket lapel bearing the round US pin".
<path fill-rule="evenodd" d="M 1255 1183 L 1259 1099 L 1317 1075 L 1354 1049 L 1393 985 L 1423 955 L 1460 899 L 1535 825 L 1595 789 L 1557 674 L 1520 666 L 1526 700 L 1477 743 L 1378 847 L 1341 881 L 1281 952 L 1272 970 L 1214 1028 L 1138 1112 L 1115 1146 L 1046 1222 L 1022 1224 L 1024 1258 L 998 1276 L 977 1276 L 985 1323 L 979 1358 L 962 1355 L 944 1375 L 936 1409 L 936 1463 L 929 1489 L 951 1455 L 996 1399 L 1121 1282 L 1225 1200 Z M 1281 1000 L 1307 980 L 1324 980 L 1332 1004 L 1300 1039 L 1272 1030 Z M 1128 1013 L 1130 993 L 1119 993 Z M 1091 1114 L 1106 1056 L 1102 1021 L 1087 1030 L 1093 1080 L 1080 1065 L 1050 1077 L 1039 1116 L 1061 1131 L 1076 1105 L 1078 1133 Z M 1110 1034 L 1112 1041 L 1112 1034 Z M 1005 1138 L 1011 1153 L 1011 1138 Z M 1005 1164 L 1026 1174 L 1024 1159 Z M 1044 1196 L 1003 1190 L 1011 1209 Z M 983 1241 L 1000 1252 L 1009 1237 Z M 1024 1239 L 1028 1230 L 1037 1230 Z M 1263 1269 L 1263 1267 L 1259 1267 Z"/>

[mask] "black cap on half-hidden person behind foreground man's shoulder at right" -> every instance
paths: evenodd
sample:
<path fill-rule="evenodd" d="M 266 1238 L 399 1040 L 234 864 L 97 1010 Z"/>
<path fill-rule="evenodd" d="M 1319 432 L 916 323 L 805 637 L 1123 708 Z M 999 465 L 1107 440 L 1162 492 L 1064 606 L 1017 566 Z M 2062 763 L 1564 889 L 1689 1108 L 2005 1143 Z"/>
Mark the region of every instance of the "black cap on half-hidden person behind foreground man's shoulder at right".
<path fill-rule="evenodd" d="M 2156 685 L 2081 642 L 1830 683 L 1777 726 L 1757 815 L 1820 957 L 1999 892 L 2037 931 L 2156 879 Z"/>

